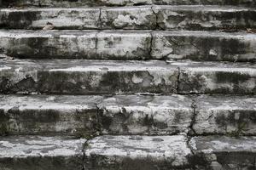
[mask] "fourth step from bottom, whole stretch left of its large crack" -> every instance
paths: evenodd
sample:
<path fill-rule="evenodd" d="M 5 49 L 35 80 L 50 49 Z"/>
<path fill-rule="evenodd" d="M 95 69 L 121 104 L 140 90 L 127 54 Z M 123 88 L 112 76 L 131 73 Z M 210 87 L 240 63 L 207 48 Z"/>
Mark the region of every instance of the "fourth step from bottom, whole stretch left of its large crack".
<path fill-rule="evenodd" d="M 0 31 L 3 54 L 19 58 L 150 59 L 148 31 Z"/>

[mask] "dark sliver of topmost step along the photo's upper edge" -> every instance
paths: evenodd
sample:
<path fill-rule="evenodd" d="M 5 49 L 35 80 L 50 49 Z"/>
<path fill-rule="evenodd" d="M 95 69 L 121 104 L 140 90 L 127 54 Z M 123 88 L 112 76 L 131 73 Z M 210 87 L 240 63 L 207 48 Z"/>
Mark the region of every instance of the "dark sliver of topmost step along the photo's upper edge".
<path fill-rule="evenodd" d="M 126 6 L 126 5 L 147 5 L 147 4 L 168 4 L 168 5 L 247 5 L 253 6 L 256 3 L 253 0 L 9 0 L 3 1 L 4 6 L 40 6 L 40 7 L 88 7 L 88 6 Z"/>

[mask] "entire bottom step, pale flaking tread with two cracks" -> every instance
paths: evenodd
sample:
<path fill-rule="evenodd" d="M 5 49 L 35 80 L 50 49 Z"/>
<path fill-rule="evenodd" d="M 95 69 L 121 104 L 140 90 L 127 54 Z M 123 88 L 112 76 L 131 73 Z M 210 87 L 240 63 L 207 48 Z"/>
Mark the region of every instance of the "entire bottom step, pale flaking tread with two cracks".
<path fill-rule="evenodd" d="M 84 148 L 85 144 L 85 148 Z M 255 137 L 1 137 L 0 167 L 27 169 L 231 169 L 255 167 Z"/>

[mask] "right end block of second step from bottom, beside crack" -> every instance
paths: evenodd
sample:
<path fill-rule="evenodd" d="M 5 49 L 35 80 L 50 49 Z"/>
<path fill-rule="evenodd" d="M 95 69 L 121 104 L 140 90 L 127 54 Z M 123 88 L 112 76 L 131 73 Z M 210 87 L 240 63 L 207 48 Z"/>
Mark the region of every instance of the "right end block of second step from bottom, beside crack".
<path fill-rule="evenodd" d="M 193 129 L 198 134 L 256 134 L 256 99 L 250 96 L 207 96 L 195 101 Z"/>

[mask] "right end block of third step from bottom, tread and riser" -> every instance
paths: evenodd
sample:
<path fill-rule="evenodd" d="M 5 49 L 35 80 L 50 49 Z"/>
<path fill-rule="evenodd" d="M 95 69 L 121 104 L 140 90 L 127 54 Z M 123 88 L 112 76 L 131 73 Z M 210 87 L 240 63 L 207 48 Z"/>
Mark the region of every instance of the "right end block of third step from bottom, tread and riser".
<path fill-rule="evenodd" d="M 256 94 L 256 65 L 170 62 L 179 65 L 180 94 Z"/>

